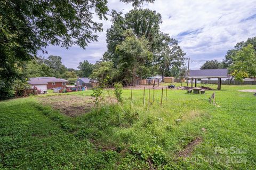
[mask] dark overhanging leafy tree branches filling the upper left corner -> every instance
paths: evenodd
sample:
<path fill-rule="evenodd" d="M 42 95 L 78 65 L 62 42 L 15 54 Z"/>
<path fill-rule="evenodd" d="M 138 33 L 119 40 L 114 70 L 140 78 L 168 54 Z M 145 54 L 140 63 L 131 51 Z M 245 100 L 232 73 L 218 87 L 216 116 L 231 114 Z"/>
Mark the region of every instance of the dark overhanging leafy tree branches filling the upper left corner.
<path fill-rule="evenodd" d="M 153 2 L 122 1 L 134 6 Z M 9 93 L 6 89 L 18 78 L 23 61 L 30 60 L 37 51 L 46 52 L 47 45 L 85 48 L 97 41 L 102 23 L 95 22 L 93 15 L 107 19 L 107 12 L 106 0 L 0 1 L 0 93 Z"/>

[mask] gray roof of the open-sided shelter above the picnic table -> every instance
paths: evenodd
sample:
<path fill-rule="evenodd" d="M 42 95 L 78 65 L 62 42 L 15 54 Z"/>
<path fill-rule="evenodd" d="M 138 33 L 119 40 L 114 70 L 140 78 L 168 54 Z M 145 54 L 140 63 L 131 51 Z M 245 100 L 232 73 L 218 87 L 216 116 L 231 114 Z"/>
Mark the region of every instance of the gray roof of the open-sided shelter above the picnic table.
<path fill-rule="evenodd" d="M 219 78 L 229 77 L 228 69 L 189 70 L 189 78 Z"/>

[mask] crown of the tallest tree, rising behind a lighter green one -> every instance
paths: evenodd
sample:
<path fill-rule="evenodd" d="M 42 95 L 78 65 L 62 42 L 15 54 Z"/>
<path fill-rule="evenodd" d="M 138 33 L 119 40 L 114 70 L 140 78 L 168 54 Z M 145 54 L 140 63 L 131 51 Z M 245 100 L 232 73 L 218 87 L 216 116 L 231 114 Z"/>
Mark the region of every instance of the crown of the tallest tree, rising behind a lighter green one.
<path fill-rule="evenodd" d="M 151 52 L 156 51 L 159 47 L 161 14 L 149 9 L 134 9 L 122 17 L 121 12 L 112 11 L 111 21 L 113 21 L 113 25 L 107 30 L 106 39 L 108 50 L 103 55 L 103 59 L 113 61 L 115 67 L 118 65 L 119 57 L 116 54 L 116 46 L 124 41 L 126 30 L 131 29 L 138 38 L 145 37 Z"/>

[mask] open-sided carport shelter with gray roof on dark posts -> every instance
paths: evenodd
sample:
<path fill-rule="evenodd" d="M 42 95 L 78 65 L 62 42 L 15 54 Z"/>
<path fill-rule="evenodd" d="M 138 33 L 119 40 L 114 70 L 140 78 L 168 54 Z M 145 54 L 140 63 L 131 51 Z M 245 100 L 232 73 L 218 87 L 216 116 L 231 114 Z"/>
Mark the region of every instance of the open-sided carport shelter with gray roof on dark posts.
<path fill-rule="evenodd" d="M 218 90 L 221 90 L 221 78 L 229 77 L 228 69 L 204 69 L 204 70 L 189 70 L 188 79 L 191 79 L 191 87 L 193 87 L 193 80 L 202 78 L 218 78 Z"/>

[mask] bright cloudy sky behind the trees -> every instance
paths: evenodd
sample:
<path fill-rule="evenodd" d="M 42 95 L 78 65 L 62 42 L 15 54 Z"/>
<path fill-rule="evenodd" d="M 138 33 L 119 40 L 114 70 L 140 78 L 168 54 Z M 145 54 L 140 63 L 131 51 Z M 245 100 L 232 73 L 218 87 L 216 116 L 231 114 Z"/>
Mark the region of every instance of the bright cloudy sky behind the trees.
<path fill-rule="evenodd" d="M 133 9 L 131 4 L 109 0 L 108 7 L 123 14 Z M 206 60 L 221 61 L 227 50 L 236 43 L 256 36 L 256 0 L 156 0 L 146 3 L 143 9 L 154 10 L 162 15 L 160 30 L 179 41 L 179 45 L 191 59 L 190 68 L 199 69 Z M 47 46 L 48 54 L 59 55 L 67 68 L 76 69 L 79 62 L 95 63 L 107 50 L 106 31 L 109 20 L 103 23 L 103 31 L 97 33 L 98 42 L 91 42 L 85 50 L 73 46 L 66 50 L 59 46 Z"/>

